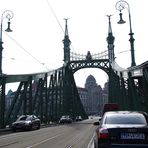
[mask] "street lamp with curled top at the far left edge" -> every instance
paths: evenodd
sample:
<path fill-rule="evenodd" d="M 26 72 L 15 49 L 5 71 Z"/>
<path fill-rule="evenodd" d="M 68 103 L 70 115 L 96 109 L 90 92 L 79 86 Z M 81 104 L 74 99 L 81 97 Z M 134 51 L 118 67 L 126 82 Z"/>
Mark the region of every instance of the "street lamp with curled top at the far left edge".
<path fill-rule="evenodd" d="M 2 28 L 3 28 L 3 20 L 4 19 L 8 20 L 8 27 L 5 31 L 7 32 L 12 32 L 12 30 L 10 29 L 10 20 L 13 18 L 13 12 L 10 10 L 6 10 L 2 13 L 1 15 L 1 26 L 0 26 L 0 74 L 2 74 L 2 50 L 3 50 L 3 41 L 2 41 Z"/>

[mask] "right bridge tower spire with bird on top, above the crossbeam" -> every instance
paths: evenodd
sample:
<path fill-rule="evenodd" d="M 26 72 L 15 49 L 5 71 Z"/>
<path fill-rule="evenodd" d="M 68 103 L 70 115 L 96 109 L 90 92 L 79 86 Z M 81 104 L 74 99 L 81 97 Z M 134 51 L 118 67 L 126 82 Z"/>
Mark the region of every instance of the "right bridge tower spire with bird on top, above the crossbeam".
<path fill-rule="evenodd" d="M 113 33 L 112 33 L 112 27 L 111 27 L 111 21 L 110 21 L 111 15 L 107 15 L 107 16 L 109 19 L 109 26 L 108 26 L 108 37 L 106 38 L 106 40 L 108 43 L 108 58 L 109 58 L 110 63 L 112 63 L 115 60 L 115 54 L 114 54 L 115 37 L 113 36 Z"/>

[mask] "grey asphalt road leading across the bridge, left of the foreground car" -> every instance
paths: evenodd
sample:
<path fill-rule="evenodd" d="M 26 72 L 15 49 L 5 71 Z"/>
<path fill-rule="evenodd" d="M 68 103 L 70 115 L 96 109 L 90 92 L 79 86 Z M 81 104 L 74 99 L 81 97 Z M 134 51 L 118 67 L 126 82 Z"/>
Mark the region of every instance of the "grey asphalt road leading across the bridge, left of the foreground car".
<path fill-rule="evenodd" d="M 95 119 L 0 136 L 0 148 L 91 148 Z"/>

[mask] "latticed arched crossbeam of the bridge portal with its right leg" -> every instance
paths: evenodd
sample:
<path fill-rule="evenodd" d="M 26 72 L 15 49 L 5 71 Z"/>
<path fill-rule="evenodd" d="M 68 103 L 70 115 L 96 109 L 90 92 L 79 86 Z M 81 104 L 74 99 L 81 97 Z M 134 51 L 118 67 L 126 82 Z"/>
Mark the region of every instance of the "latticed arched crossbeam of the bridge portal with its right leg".
<path fill-rule="evenodd" d="M 119 76 L 116 74 L 112 68 L 111 62 L 109 59 L 86 59 L 86 60 L 76 60 L 69 61 L 66 64 L 67 68 L 74 75 L 80 69 L 84 68 L 98 68 L 103 70 L 108 75 L 108 101 L 109 102 L 118 102 L 120 98 L 120 81 Z"/>

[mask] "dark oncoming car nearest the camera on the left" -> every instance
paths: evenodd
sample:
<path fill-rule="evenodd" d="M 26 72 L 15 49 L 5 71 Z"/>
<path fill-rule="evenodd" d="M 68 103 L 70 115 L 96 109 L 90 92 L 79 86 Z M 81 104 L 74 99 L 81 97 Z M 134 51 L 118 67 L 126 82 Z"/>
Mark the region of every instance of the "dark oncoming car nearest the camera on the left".
<path fill-rule="evenodd" d="M 12 130 L 40 129 L 40 125 L 40 119 L 35 115 L 21 115 L 15 122 L 12 123 Z"/>

